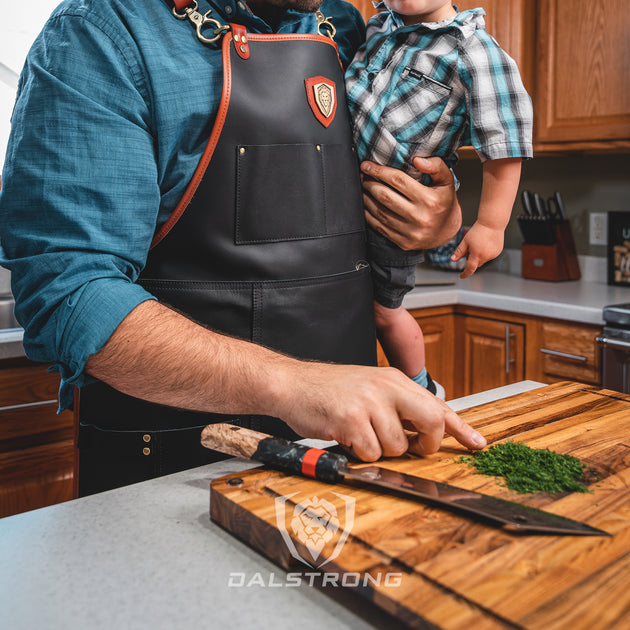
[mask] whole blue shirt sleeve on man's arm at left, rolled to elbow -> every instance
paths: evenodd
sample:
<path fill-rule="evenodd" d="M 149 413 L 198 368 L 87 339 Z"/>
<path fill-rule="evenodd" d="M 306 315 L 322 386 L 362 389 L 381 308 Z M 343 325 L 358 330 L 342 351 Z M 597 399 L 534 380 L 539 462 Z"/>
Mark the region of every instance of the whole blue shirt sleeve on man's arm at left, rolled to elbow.
<path fill-rule="evenodd" d="M 60 406 L 87 359 L 152 296 L 135 283 L 160 205 L 150 91 L 133 41 L 61 14 L 18 87 L 0 191 L 0 263 L 11 270 L 27 356 L 56 365 Z"/>

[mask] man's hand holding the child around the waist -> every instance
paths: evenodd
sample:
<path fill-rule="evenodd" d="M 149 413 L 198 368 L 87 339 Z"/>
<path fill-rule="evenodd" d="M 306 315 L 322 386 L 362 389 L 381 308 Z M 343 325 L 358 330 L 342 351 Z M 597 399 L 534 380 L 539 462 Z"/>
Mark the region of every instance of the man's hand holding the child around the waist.
<path fill-rule="evenodd" d="M 423 186 L 402 171 L 363 162 L 363 202 L 368 225 L 404 250 L 430 249 L 452 238 L 462 224 L 453 174 L 440 158 L 414 158 Z"/>

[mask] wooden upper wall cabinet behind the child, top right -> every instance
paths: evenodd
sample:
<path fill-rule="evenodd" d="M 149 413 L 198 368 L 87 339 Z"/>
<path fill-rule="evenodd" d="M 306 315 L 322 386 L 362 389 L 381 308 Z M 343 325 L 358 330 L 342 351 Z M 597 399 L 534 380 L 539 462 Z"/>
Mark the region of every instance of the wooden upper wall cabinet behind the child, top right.
<path fill-rule="evenodd" d="M 369 0 L 353 0 L 364 16 Z M 460 0 L 516 60 L 534 103 L 534 151 L 630 151 L 627 0 Z"/>

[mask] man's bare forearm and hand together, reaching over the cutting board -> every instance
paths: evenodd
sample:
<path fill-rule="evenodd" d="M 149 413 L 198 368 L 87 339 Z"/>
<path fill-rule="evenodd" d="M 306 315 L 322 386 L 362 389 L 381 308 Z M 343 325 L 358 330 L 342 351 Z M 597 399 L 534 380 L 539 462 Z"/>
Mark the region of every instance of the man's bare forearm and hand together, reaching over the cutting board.
<path fill-rule="evenodd" d="M 484 439 L 441 400 L 393 368 L 301 361 L 200 326 L 152 300 L 137 306 L 86 370 L 155 403 L 281 418 L 304 437 L 337 440 L 373 461 L 435 452 L 444 430 L 469 448 Z M 411 438 L 403 426 L 416 431 Z"/>

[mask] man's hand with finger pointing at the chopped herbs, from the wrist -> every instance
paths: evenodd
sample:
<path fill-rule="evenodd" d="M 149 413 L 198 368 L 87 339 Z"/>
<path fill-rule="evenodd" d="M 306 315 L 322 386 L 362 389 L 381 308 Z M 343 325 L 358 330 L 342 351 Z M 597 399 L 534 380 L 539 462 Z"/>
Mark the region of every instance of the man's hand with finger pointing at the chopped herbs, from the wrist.
<path fill-rule="evenodd" d="M 336 440 L 359 459 L 434 453 L 445 431 L 470 449 L 486 445 L 444 402 L 394 368 L 300 362 L 287 377 L 276 380 L 277 414 L 300 435 Z"/>

